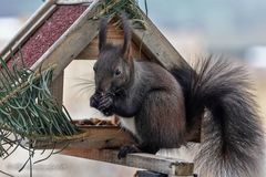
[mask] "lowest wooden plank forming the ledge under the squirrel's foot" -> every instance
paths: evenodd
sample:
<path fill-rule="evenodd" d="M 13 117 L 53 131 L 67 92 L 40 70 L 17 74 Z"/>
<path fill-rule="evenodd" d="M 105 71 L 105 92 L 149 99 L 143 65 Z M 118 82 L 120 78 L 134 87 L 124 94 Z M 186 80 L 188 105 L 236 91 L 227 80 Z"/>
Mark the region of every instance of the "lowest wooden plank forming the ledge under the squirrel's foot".
<path fill-rule="evenodd" d="M 101 160 L 134 168 L 147 169 L 156 173 L 193 176 L 193 163 L 183 162 L 175 158 L 162 157 L 151 154 L 129 154 L 125 158 L 119 159 L 117 152 L 111 149 L 79 149 L 66 148 L 63 155 Z"/>

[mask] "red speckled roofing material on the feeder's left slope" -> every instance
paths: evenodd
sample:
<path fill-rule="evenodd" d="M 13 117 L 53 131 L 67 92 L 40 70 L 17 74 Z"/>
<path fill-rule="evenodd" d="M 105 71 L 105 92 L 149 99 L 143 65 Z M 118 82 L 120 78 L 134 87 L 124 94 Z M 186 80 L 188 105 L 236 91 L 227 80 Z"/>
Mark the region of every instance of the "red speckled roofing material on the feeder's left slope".
<path fill-rule="evenodd" d="M 32 66 L 38 59 L 70 28 L 88 6 L 58 6 L 57 10 L 21 46 L 25 66 Z M 17 54 L 18 55 L 18 54 Z M 12 60 L 11 60 L 12 61 Z M 19 65 L 19 64 L 18 64 Z"/>

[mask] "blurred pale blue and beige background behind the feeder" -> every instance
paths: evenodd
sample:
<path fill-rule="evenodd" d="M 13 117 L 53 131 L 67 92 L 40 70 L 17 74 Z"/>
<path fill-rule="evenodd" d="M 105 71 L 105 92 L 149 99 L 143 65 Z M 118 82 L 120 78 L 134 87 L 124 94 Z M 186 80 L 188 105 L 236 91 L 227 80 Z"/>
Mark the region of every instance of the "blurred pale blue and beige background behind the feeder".
<path fill-rule="evenodd" d="M 42 0 L 1 0 L 0 51 L 25 20 L 43 3 Z M 144 0 L 139 0 L 143 10 Z M 206 53 L 224 54 L 245 63 L 252 74 L 262 117 L 266 116 L 266 1 L 265 0 L 147 0 L 147 15 L 176 50 L 193 62 Z M 72 62 L 65 71 L 64 105 L 72 117 L 100 116 L 89 107 L 90 92 L 82 90 L 82 79 L 93 79 L 88 65 Z M 74 104 L 73 104 L 74 103 Z M 264 118 L 265 119 L 265 118 Z M 28 152 L 18 150 L 0 163 L 0 170 L 29 176 L 29 167 L 18 173 Z M 38 177 L 123 177 L 135 169 L 55 155 L 33 167 Z M 0 176 L 4 176 L 0 173 Z"/>

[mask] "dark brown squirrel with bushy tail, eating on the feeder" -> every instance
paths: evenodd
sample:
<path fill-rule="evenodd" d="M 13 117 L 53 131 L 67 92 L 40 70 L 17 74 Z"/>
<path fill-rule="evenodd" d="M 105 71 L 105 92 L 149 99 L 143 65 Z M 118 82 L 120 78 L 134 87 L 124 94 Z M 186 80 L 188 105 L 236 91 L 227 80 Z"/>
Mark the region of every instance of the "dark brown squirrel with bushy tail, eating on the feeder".
<path fill-rule="evenodd" d="M 186 145 L 203 117 L 203 142 L 195 157 L 200 176 L 255 177 L 263 155 L 263 131 L 246 71 L 225 60 L 201 60 L 195 69 L 135 61 L 131 29 L 122 15 L 124 43 L 106 43 L 106 19 L 100 24 L 99 60 L 92 107 L 117 115 L 137 139 L 120 149 L 152 153 Z"/>

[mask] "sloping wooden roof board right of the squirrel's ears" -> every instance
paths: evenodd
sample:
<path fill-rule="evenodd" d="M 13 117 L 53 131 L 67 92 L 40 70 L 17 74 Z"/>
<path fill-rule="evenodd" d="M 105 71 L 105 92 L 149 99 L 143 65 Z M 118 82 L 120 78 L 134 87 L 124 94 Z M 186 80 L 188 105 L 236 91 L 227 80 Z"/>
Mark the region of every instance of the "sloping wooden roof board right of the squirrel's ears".
<path fill-rule="evenodd" d="M 181 67 L 190 67 L 183 56 L 174 49 L 144 12 L 142 12 L 142 14 L 147 28 L 146 30 L 141 28 L 133 29 L 133 40 L 135 40 L 136 43 L 142 43 L 143 50 L 147 52 L 146 54 L 151 59 L 156 59 L 166 67 L 171 67 L 173 64 Z"/>

